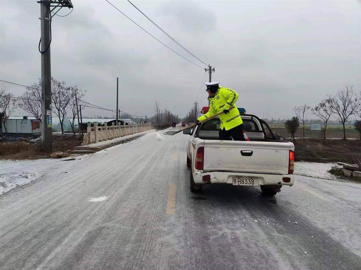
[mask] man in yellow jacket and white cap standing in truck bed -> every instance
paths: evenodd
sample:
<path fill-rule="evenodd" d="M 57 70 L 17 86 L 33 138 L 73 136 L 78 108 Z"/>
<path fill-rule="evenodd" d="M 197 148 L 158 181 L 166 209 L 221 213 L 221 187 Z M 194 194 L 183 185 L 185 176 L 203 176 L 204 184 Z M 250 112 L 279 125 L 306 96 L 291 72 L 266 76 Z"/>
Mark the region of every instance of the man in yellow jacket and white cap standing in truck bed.
<path fill-rule="evenodd" d="M 235 106 L 238 94 L 232 89 L 219 85 L 219 82 L 206 82 L 208 99 L 210 101 L 209 111 L 198 118 L 197 122 L 222 112 L 219 115 L 221 129 L 219 130 L 219 140 L 230 140 L 231 136 L 235 141 L 245 141 L 243 135 L 243 121 Z M 229 109 L 230 107 L 235 107 Z"/>

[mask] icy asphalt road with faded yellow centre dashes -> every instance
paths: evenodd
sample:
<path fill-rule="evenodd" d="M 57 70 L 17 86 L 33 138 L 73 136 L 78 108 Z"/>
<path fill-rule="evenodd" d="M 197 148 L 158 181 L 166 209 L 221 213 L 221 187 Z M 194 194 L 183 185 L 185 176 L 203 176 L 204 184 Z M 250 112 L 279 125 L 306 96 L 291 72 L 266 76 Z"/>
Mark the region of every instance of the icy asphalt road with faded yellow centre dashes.
<path fill-rule="evenodd" d="M 0 268 L 360 269 L 360 184 L 296 175 L 275 197 L 192 194 L 187 139 L 149 134 L 52 162 L 1 195 Z"/>

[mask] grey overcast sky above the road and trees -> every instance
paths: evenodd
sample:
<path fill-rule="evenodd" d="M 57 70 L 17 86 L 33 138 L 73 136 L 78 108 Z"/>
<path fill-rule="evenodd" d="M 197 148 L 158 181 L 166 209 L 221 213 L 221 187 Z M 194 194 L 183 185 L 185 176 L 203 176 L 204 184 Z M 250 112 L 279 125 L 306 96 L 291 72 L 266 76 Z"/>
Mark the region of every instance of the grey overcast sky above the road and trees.
<path fill-rule="evenodd" d="M 179 54 L 205 66 L 171 41 L 129 2 L 109 0 Z M 153 104 L 183 117 L 204 69 L 153 39 L 106 1 L 72 1 L 52 21 L 51 74 L 87 91 L 86 100 L 136 115 Z M 260 117 L 288 118 L 292 107 L 316 105 L 345 85 L 361 88 L 360 1 L 133 1 L 203 62 L 212 81 L 239 94 L 238 107 Z M 65 15 L 63 8 L 58 14 Z M 40 73 L 40 4 L 0 1 L 0 78 L 30 85 Z M 207 79 L 208 81 L 208 79 Z M 25 89 L 7 86 L 14 95 Z M 201 95 L 203 95 L 203 88 Z M 206 94 L 200 105 L 207 105 Z M 18 114 L 21 112 L 17 112 Z M 83 115 L 106 111 L 86 109 Z"/>

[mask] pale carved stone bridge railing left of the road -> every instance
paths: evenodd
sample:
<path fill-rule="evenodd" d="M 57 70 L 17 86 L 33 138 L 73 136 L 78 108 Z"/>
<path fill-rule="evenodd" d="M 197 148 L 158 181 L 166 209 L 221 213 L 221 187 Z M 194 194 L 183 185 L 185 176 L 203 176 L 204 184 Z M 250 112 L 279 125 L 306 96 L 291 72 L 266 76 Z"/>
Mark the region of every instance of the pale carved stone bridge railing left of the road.
<path fill-rule="evenodd" d="M 112 140 L 151 129 L 151 123 L 118 126 L 107 126 L 105 123 L 104 126 L 98 126 L 98 122 L 94 122 L 94 126 L 91 126 L 91 122 L 88 122 L 87 133 L 84 134 L 82 145 Z"/>

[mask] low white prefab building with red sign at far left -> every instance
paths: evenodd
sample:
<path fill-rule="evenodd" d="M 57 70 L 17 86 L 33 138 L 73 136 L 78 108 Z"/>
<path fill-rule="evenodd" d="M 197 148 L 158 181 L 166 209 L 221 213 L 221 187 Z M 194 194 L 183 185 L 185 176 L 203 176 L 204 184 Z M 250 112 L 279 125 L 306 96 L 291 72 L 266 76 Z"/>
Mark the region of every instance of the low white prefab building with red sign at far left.
<path fill-rule="evenodd" d="M 41 133 L 42 123 L 35 117 L 30 116 L 12 116 L 4 123 L 0 122 L 0 132 L 15 134 L 35 134 Z"/>

